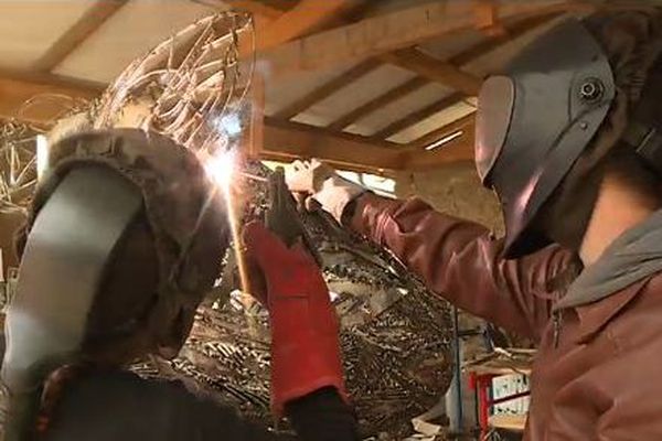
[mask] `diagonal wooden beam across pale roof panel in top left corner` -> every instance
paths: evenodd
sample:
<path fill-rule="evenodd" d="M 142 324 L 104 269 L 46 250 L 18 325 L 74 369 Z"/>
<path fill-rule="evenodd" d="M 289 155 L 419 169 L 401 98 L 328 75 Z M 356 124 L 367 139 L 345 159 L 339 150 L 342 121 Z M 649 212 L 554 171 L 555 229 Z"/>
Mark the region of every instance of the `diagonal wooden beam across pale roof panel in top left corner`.
<path fill-rule="evenodd" d="M 96 0 L 95 4 L 53 43 L 32 68 L 51 72 L 127 2 L 128 0 Z"/>

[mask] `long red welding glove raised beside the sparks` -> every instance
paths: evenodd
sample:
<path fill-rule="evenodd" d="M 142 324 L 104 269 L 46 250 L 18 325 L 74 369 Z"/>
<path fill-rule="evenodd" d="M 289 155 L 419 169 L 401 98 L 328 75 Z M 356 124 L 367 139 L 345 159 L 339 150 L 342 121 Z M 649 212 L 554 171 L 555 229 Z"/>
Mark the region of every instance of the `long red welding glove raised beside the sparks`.
<path fill-rule="evenodd" d="M 252 276 L 264 276 L 252 290 L 269 310 L 275 413 L 323 387 L 346 399 L 338 318 L 314 259 L 301 244 L 288 248 L 261 223 L 248 224 L 243 239 Z"/>

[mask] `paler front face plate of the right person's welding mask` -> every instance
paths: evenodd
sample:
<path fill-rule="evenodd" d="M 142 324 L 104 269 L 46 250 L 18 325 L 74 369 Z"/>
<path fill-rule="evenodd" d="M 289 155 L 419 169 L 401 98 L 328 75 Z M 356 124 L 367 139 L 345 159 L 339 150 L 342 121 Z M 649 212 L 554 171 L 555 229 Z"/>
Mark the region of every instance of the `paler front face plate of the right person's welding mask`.
<path fill-rule="evenodd" d="M 501 154 L 513 115 L 515 86 L 506 76 L 483 84 L 476 117 L 476 168 L 483 185 L 491 186 L 490 172 Z"/>

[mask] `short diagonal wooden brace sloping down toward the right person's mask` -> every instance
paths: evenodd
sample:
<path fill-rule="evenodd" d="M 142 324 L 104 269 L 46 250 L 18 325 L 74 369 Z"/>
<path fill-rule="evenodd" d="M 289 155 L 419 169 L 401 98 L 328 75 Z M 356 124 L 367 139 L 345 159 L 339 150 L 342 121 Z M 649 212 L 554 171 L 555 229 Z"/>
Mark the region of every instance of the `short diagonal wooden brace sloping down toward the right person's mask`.
<path fill-rule="evenodd" d="M 482 84 L 482 78 L 462 72 L 450 63 L 442 62 L 413 47 L 381 55 L 380 60 L 416 72 L 420 76 L 441 83 L 469 96 L 478 95 Z"/>

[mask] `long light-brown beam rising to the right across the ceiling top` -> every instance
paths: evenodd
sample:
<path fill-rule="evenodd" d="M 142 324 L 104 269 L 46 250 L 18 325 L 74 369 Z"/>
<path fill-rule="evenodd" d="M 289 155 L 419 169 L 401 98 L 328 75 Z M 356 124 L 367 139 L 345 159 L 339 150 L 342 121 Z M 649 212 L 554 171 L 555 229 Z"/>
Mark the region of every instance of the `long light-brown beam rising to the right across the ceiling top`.
<path fill-rule="evenodd" d="M 570 9 L 568 4 L 574 2 L 504 0 L 499 9 L 499 19 L 524 19 Z M 451 36 L 473 28 L 472 7 L 470 1 L 439 0 L 369 18 L 273 47 L 261 54 L 259 65 L 270 79 L 275 79 L 296 72 L 317 71 L 377 56 L 434 37 Z"/>

